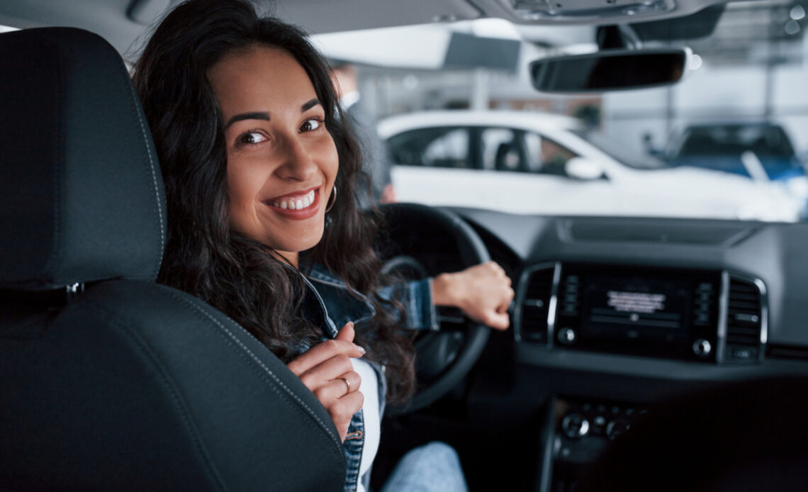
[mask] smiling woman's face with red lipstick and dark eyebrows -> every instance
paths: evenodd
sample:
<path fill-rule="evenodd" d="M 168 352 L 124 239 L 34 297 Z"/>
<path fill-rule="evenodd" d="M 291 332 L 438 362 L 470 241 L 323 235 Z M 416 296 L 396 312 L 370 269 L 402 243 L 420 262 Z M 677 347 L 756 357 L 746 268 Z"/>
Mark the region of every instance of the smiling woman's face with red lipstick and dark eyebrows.
<path fill-rule="evenodd" d="M 227 145 L 230 226 L 297 263 L 322 238 L 339 169 L 309 76 L 279 48 L 255 45 L 208 70 Z"/>

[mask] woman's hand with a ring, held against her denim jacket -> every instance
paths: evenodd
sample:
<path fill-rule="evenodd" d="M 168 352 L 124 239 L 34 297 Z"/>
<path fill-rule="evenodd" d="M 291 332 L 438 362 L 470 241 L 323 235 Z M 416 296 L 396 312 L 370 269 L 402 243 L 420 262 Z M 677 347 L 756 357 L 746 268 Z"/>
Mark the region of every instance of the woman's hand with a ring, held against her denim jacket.
<path fill-rule="evenodd" d="M 348 322 L 337 338 L 318 343 L 287 364 L 326 407 L 343 442 L 351 418 L 364 403 L 359 391 L 362 378 L 351 364 L 351 358 L 364 355 L 364 348 L 353 343 L 353 338 L 353 323 Z"/>

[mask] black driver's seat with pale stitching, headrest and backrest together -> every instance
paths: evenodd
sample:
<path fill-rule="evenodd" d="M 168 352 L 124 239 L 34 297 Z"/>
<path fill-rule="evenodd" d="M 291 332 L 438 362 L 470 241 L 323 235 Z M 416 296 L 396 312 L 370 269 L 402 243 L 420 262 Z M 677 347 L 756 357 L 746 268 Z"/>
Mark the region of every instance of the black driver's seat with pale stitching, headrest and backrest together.
<path fill-rule="evenodd" d="M 154 283 L 162 180 L 115 50 L 0 35 L 0 98 L 0 490 L 340 490 L 314 395 Z"/>

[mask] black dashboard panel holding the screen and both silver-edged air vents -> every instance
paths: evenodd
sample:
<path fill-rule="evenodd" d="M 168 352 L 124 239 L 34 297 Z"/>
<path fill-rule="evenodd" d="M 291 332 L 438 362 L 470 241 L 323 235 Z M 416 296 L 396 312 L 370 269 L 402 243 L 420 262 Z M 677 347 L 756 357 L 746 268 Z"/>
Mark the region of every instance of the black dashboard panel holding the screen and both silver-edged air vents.
<path fill-rule="evenodd" d="M 766 289 L 739 272 L 542 263 L 517 288 L 515 336 L 549 350 L 755 364 Z"/>

